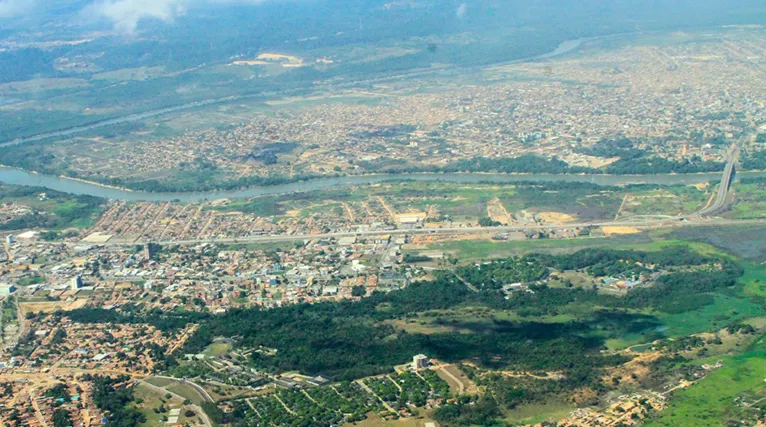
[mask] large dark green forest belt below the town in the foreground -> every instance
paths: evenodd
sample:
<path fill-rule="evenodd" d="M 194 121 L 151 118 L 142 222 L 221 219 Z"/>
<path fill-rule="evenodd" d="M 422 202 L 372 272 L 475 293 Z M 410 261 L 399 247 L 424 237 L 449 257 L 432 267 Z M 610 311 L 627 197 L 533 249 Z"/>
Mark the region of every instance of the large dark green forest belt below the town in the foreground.
<path fill-rule="evenodd" d="M 655 286 L 634 289 L 624 297 L 603 295 L 593 289 L 554 288 L 540 282 L 551 269 L 584 270 L 593 275 L 627 274 L 638 268 L 636 263 L 668 272 Z M 68 315 L 78 322 L 149 323 L 164 330 L 200 322 L 202 326 L 186 343 L 184 353 L 202 352 L 216 336 L 237 336 L 241 337 L 239 346 L 278 350 L 277 355 L 269 351 L 252 353 L 253 366 L 271 372 L 300 370 L 354 379 L 385 372 L 418 353 L 446 361 L 474 360 L 488 367 L 568 370 L 575 365 L 596 368 L 618 362 L 598 354 L 602 342 L 590 333 L 594 324 L 494 320 L 489 326 L 462 325 L 482 333 L 426 335 L 397 329 L 390 321 L 461 306 L 486 306 L 526 317 L 555 315 L 569 304 L 588 303 L 602 307 L 594 311 L 595 324 L 609 324 L 613 333 L 620 333 L 657 324 L 652 316 L 626 309 L 664 313 L 697 309 L 712 302 L 706 294 L 732 286 L 741 270 L 725 260 L 673 248 L 659 252 L 585 250 L 560 256 L 528 255 L 462 267 L 456 273 L 444 271 L 434 281 L 387 294 L 374 293 L 358 302 L 231 310 L 221 316 L 141 313 L 136 307 L 121 312 L 79 309 Z M 479 287 L 480 292 L 469 289 L 463 280 Z M 530 283 L 533 292 L 506 298 L 500 287 L 515 282 Z"/>

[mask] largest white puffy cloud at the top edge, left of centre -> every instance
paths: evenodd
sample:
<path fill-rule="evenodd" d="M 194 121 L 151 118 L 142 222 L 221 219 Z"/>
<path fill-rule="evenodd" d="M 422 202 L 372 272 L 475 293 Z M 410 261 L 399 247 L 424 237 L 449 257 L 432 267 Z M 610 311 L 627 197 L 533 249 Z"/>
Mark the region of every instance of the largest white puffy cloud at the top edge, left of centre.
<path fill-rule="evenodd" d="M 0 0 L 3 1 L 3 0 Z M 132 33 L 144 19 L 172 22 L 196 5 L 259 4 L 266 0 L 97 0 L 85 9 L 91 19 L 111 21 L 117 30 Z"/>

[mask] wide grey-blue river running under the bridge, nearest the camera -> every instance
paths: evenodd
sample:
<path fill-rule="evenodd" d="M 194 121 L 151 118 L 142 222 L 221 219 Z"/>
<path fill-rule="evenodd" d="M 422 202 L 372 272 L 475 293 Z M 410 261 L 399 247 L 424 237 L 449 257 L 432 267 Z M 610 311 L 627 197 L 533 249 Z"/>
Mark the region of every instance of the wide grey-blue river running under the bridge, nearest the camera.
<path fill-rule="evenodd" d="M 738 177 L 766 177 L 766 172 L 738 172 Z M 156 201 L 183 202 L 215 199 L 243 199 L 256 196 L 280 195 L 294 192 L 325 190 L 330 188 L 347 187 L 351 185 L 376 184 L 394 180 L 412 181 L 444 181 L 454 183 L 492 182 L 507 184 L 520 181 L 543 182 L 590 182 L 598 185 L 625 184 L 699 184 L 721 179 L 720 173 L 704 174 L 672 174 L 672 175 L 550 175 L 550 174 L 396 174 L 396 175 L 362 175 L 335 178 L 317 178 L 305 182 L 272 185 L 267 187 L 250 187 L 232 191 L 209 191 L 199 193 L 147 193 L 129 191 L 119 188 L 104 187 L 97 184 L 76 181 L 49 175 L 30 173 L 21 169 L 0 167 L 0 182 L 14 185 L 38 186 L 50 190 L 63 191 L 72 194 L 85 194 L 113 200 L 125 201 Z"/>

